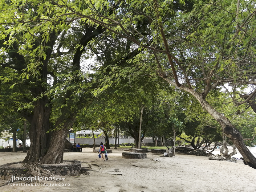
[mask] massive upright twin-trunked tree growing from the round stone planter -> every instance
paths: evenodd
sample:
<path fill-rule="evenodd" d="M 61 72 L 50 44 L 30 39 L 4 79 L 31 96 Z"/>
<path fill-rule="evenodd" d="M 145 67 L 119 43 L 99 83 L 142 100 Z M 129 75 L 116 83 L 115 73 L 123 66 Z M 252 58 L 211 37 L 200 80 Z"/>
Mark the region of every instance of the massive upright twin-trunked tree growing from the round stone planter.
<path fill-rule="evenodd" d="M 1 1 L 0 86 L 15 90 L 5 97 L 13 99 L 13 113 L 31 124 L 24 163 L 40 157 L 40 163 L 62 162 L 69 128 L 91 97 L 81 60 L 88 42 L 104 31 L 84 22 L 70 25 L 63 17 L 38 25 L 54 15 L 52 4 L 44 3 Z"/>

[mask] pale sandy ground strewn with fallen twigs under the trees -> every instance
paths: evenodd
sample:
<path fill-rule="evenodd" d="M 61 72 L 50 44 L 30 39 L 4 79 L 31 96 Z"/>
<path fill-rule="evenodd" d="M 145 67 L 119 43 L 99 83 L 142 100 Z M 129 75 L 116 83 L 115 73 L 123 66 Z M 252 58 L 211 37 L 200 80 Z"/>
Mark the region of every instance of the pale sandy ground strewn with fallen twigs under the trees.
<path fill-rule="evenodd" d="M 54 184 L 66 186 L 0 187 L 0 192 L 25 191 L 88 191 L 88 192 L 254 192 L 256 169 L 243 163 L 208 160 L 207 157 L 176 154 L 176 158 L 147 153 L 147 159 L 123 159 L 126 149 L 112 149 L 103 162 L 92 148 L 83 152 L 64 153 L 64 160 L 79 160 L 82 167 L 91 166 L 89 175 L 64 176 L 65 181 Z M 22 152 L 0 152 L 0 164 L 18 162 Z M 151 161 L 159 158 L 160 162 Z M 99 167 L 98 167 L 99 166 Z M 0 180 L 0 182 L 5 182 Z M 4 183 L 0 183 L 2 185 Z M 45 183 L 53 184 L 53 183 Z M 37 183 L 38 185 L 38 183 Z M 42 183 L 40 184 L 42 185 Z M 68 186 L 69 185 L 69 186 Z"/>

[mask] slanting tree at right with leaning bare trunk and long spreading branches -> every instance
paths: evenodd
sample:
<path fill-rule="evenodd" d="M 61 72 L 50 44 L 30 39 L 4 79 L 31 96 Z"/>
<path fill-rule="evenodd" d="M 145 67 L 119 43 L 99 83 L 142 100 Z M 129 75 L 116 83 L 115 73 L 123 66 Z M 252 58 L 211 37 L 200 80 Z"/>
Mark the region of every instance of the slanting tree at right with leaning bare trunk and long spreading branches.
<path fill-rule="evenodd" d="M 230 86 L 255 85 L 255 4 L 250 1 L 83 1 L 66 4 L 52 1 L 59 8 L 90 20 L 133 42 L 143 50 L 141 61 L 155 57 L 155 74 L 171 86 L 193 95 L 219 122 L 245 163 L 256 168 L 240 132 L 230 120 L 208 102 L 207 95 L 225 83 Z M 238 1 L 239 2 L 239 1 Z M 102 12 L 103 8 L 114 14 Z M 138 28 L 147 23 L 143 32 Z M 255 94 L 253 90 L 249 99 Z"/>

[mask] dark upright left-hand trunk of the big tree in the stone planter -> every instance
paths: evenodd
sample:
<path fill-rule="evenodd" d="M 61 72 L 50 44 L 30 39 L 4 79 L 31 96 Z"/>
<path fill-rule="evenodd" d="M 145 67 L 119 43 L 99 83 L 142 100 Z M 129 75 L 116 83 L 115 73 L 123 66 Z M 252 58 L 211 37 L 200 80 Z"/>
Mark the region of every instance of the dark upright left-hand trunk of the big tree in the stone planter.
<path fill-rule="evenodd" d="M 46 132 L 50 128 L 51 107 L 48 104 L 47 97 L 34 101 L 34 114 L 29 131 L 30 148 L 23 163 L 38 162 L 40 156 L 44 157 L 48 150 L 50 134 Z"/>

